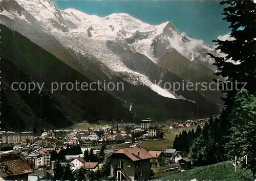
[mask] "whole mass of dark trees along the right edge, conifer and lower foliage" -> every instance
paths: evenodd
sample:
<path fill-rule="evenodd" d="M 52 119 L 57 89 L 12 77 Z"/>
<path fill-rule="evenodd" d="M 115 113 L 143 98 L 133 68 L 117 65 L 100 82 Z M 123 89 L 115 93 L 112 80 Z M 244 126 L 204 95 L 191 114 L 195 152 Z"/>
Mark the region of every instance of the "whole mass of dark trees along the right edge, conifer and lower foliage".
<path fill-rule="evenodd" d="M 191 145 L 189 156 L 196 166 L 247 155 L 242 168 L 256 175 L 256 3 L 253 0 L 222 1 L 224 20 L 231 28 L 228 40 L 215 40 L 216 50 L 225 56 L 210 55 L 226 82 L 224 107 L 211 118 Z M 230 61 L 231 60 L 231 61 Z"/>

